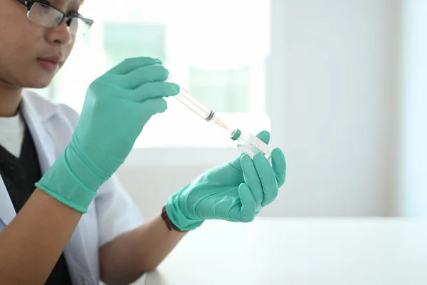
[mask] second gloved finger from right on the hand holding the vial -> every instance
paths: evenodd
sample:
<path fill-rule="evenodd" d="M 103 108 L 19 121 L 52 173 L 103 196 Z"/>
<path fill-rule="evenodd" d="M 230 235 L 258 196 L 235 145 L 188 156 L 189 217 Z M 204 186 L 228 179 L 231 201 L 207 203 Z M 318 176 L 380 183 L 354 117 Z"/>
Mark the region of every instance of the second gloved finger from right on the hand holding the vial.
<path fill-rule="evenodd" d="M 268 162 L 263 153 L 258 152 L 253 156 L 253 165 L 258 173 L 258 179 L 263 190 L 261 206 L 265 207 L 278 196 L 278 182 L 276 181 L 273 167 L 271 167 L 270 162 Z"/>

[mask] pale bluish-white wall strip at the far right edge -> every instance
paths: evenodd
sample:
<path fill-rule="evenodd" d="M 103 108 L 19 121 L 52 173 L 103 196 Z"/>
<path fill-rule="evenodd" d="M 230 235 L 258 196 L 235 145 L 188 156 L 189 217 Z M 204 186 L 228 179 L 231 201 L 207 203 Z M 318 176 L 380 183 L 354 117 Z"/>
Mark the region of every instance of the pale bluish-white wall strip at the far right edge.
<path fill-rule="evenodd" d="M 399 214 L 427 217 L 427 1 L 403 9 Z"/>

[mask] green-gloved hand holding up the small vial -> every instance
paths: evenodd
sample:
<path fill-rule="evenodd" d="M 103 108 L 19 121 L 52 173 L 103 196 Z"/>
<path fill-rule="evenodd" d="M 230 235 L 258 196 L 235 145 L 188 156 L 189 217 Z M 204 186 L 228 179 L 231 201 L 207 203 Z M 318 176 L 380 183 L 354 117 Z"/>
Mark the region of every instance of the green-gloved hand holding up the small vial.
<path fill-rule="evenodd" d="M 257 137 L 265 143 L 270 141 L 265 131 Z M 272 165 L 262 153 L 255 154 L 253 160 L 242 154 L 171 195 L 166 212 L 171 222 L 184 231 L 199 227 L 204 219 L 251 222 L 275 200 L 285 174 L 285 156 L 279 148 L 272 152 Z"/>

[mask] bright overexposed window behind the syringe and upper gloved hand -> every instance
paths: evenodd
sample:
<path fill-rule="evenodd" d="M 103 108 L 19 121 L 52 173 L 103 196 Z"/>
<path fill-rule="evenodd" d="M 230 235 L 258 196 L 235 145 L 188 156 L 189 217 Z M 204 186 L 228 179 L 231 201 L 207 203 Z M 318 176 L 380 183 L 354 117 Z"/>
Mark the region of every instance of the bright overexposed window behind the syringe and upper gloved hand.
<path fill-rule="evenodd" d="M 102 10 L 100 10 L 102 9 Z M 95 20 L 79 38 L 48 95 L 78 112 L 89 84 L 134 56 L 162 59 L 172 79 L 238 128 L 270 130 L 265 113 L 265 61 L 270 44 L 269 1 L 123 0 L 88 1 L 82 14 Z M 135 147 L 222 147 L 223 130 L 201 120 L 178 100 L 167 98 Z"/>

